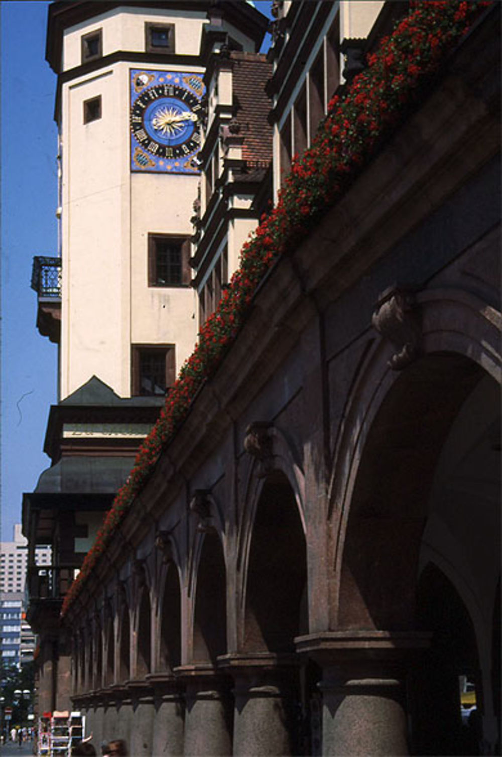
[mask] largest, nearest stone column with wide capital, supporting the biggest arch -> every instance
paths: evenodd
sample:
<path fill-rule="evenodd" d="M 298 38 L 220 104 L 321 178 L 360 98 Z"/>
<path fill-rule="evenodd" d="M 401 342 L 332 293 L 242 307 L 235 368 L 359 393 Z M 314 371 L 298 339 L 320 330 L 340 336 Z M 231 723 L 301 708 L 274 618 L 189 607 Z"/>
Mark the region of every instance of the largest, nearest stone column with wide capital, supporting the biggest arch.
<path fill-rule="evenodd" d="M 323 668 L 323 755 L 409 755 L 407 662 L 429 634 L 326 631 L 296 639 Z"/>

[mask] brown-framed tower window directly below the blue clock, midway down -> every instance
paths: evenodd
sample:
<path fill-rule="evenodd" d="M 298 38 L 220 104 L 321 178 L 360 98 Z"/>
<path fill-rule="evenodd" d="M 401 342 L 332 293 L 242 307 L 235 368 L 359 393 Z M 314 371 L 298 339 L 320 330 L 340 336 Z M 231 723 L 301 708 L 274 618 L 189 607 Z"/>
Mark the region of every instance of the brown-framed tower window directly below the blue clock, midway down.
<path fill-rule="evenodd" d="M 148 235 L 148 286 L 190 284 L 190 242 L 168 234 Z"/>

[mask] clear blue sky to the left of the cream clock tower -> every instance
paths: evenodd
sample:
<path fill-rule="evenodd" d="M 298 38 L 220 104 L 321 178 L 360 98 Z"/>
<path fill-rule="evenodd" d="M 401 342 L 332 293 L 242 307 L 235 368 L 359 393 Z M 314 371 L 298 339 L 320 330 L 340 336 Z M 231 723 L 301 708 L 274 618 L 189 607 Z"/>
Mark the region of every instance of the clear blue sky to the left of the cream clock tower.
<path fill-rule="evenodd" d="M 20 522 L 23 491 L 56 401 L 57 347 L 36 330 L 34 255 L 57 254 L 56 77 L 45 62 L 48 2 L 2 2 L 2 540 Z"/>

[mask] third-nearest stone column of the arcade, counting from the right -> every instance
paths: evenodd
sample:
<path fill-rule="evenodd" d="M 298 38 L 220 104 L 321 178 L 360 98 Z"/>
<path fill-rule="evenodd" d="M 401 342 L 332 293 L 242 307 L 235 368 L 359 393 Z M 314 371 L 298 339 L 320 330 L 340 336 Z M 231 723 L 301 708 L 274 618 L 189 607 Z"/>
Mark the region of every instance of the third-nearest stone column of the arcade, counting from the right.
<path fill-rule="evenodd" d="M 176 675 L 186 688 L 186 757 L 232 754 L 232 701 L 229 681 L 212 665 L 183 665 Z"/>

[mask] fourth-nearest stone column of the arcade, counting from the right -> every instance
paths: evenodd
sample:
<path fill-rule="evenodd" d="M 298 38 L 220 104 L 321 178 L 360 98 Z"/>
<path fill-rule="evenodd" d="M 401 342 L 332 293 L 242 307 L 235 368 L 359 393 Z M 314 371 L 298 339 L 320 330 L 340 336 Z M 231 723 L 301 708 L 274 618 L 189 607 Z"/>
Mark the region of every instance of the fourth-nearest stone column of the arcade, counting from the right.
<path fill-rule="evenodd" d="M 153 751 L 155 757 L 178 757 L 183 754 L 185 702 L 179 681 L 173 674 L 147 676 L 154 689 Z"/>

